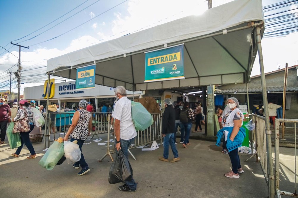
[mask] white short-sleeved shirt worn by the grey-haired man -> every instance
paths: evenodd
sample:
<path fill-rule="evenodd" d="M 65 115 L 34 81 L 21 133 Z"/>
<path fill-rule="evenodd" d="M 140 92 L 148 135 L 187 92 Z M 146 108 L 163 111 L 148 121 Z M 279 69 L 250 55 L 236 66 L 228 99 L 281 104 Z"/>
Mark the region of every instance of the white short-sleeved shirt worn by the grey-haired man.
<path fill-rule="evenodd" d="M 115 103 L 112 117 L 120 120 L 120 139 L 129 140 L 137 135 L 131 118 L 131 101 L 127 97 L 123 96 Z"/>

